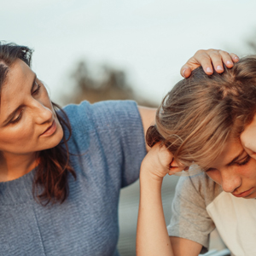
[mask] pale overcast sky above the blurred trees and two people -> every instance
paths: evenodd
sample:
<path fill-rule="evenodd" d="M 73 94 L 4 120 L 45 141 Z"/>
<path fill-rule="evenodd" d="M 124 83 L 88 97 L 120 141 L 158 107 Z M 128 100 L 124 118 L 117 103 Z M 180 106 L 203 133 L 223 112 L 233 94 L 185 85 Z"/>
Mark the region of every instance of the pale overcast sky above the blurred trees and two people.
<path fill-rule="evenodd" d="M 10 0 L 1 3 L 0 31 L 35 49 L 33 67 L 54 98 L 85 57 L 126 68 L 136 90 L 160 102 L 197 49 L 241 48 L 256 33 L 255 8 L 239 0 Z"/>

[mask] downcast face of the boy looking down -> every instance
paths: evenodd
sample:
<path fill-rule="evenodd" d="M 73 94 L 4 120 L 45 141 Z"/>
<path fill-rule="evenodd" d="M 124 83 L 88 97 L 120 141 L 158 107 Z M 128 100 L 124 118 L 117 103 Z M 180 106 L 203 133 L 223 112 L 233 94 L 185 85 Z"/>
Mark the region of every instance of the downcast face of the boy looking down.
<path fill-rule="evenodd" d="M 256 198 L 256 160 L 242 148 L 239 139 L 225 144 L 207 175 L 236 197 Z"/>

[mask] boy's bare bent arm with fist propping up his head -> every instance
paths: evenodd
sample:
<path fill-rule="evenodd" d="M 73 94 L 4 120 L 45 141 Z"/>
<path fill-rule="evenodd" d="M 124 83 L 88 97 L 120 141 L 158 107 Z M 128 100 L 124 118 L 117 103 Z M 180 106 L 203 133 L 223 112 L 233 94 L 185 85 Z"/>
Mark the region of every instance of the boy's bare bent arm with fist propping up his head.
<path fill-rule="evenodd" d="M 171 164 L 171 165 L 170 165 Z M 170 167 L 171 166 L 171 167 Z M 163 177 L 180 172 L 172 154 L 154 145 L 143 160 L 140 173 L 140 205 L 137 222 L 137 256 L 193 256 L 201 251 L 195 241 L 172 237 L 166 230 L 161 201 Z"/>

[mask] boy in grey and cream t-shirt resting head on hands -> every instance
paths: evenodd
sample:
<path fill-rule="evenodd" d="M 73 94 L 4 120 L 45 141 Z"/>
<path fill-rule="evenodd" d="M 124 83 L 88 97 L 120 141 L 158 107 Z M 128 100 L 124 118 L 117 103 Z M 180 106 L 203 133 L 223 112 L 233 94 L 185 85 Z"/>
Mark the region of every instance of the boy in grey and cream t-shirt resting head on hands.
<path fill-rule="evenodd" d="M 215 227 L 232 255 L 256 255 L 255 114 L 256 55 L 222 74 L 195 69 L 167 94 L 141 166 L 138 256 L 198 255 Z M 166 230 L 163 177 L 195 164 L 202 172 L 180 178 Z"/>

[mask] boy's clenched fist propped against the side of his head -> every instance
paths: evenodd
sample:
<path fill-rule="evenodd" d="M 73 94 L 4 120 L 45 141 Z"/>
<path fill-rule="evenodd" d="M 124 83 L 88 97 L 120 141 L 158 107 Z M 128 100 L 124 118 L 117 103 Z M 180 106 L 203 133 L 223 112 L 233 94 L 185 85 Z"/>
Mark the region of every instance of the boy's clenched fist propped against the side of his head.
<path fill-rule="evenodd" d="M 177 165 L 177 161 L 165 146 L 156 143 L 143 160 L 141 172 L 143 171 L 157 179 L 162 179 L 167 173 L 172 175 L 183 171 L 183 166 Z"/>

